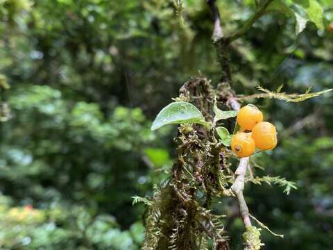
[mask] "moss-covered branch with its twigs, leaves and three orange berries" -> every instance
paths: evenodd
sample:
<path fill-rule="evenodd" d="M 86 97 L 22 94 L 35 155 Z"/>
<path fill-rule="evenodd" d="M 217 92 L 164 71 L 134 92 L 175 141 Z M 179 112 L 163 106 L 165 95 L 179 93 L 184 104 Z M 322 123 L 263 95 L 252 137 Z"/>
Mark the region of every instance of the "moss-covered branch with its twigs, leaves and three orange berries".
<path fill-rule="evenodd" d="M 260 249 L 263 245 L 260 240 L 261 228 L 270 230 L 250 215 L 243 195 L 245 183 L 250 181 L 255 184 L 278 184 L 284 187 L 287 194 L 292 188 L 296 189 L 296 185 L 285 178 L 254 176 L 251 171 L 246 178 L 247 170 L 251 169 L 248 156 L 254 153 L 255 147 L 260 150 L 273 149 L 277 144 L 277 135 L 273 124 L 262 122 L 263 115 L 260 110 L 255 106 L 245 106 L 240 110 L 239 102 L 255 98 L 298 102 L 330 91 L 287 94 L 281 92 L 281 88 L 276 92 L 259 88 L 262 93 L 237 96 L 231 88 L 228 47 L 231 42 L 244 35 L 257 19 L 268 10 L 280 10 L 296 18 L 296 33 L 300 33 L 307 21 L 322 28 L 320 10 L 314 12 L 304 8 L 304 16 L 294 11 L 296 3 L 293 1 L 256 1 L 255 15 L 250 17 L 239 31 L 224 35 L 215 1 L 207 0 L 207 3 L 214 15 L 213 43 L 221 65 L 221 79 L 216 88 L 213 88 L 206 78 L 191 78 L 182 85 L 175 102 L 163 108 L 153 122 L 152 130 L 167 124 L 180 126 L 171 177 L 162 185 L 155 185 L 153 197 L 135 197 L 135 202 L 143 201 L 148 209 L 146 238 L 142 246 L 145 250 L 207 249 L 210 239 L 214 249 L 230 249 L 228 233 L 223 226 L 222 218 L 225 215 L 215 215 L 211 211 L 214 197 L 237 199 L 239 215 L 245 226 L 244 248 Z M 315 0 L 311 0 L 311 3 L 319 6 Z M 182 1 L 176 1 L 176 5 L 183 9 Z M 302 5 L 298 7 L 301 8 Z M 181 12 L 178 11 L 178 14 L 181 15 Z M 230 129 L 220 125 L 236 117 L 237 113 L 238 124 L 236 123 L 233 133 L 230 134 Z M 230 159 L 237 156 L 241 157 L 239 165 L 236 171 L 232 171 Z"/>

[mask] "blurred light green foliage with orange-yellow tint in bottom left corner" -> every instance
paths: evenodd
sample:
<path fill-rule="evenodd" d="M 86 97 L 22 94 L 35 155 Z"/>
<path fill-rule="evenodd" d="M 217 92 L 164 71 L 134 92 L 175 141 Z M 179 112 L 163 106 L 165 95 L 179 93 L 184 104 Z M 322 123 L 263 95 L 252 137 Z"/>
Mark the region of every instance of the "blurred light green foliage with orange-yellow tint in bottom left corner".
<path fill-rule="evenodd" d="M 6 202 L 4 202 L 6 201 Z M 74 249 L 82 244 L 83 249 L 139 249 L 144 228 L 135 223 L 130 230 L 121 231 L 114 217 L 92 217 L 82 206 L 71 210 L 55 206 L 36 209 L 31 205 L 11 207 L 8 198 L 1 196 L 1 227 L 6 228 L 0 236 L 3 249 Z"/>

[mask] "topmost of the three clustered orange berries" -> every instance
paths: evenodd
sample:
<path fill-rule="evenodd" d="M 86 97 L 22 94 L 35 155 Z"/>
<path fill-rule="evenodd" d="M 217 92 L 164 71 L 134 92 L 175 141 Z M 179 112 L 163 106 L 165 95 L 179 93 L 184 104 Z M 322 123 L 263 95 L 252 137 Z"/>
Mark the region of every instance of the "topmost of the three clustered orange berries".
<path fill-rule="evenodd" d="M 251 131 L 263 119 L 262 112 L 256 106 L 247 105 L 239 110 L 236 121 L 243 130 Z"/>

